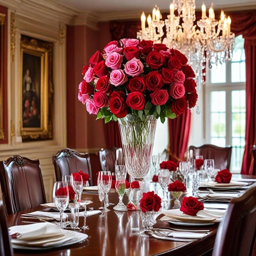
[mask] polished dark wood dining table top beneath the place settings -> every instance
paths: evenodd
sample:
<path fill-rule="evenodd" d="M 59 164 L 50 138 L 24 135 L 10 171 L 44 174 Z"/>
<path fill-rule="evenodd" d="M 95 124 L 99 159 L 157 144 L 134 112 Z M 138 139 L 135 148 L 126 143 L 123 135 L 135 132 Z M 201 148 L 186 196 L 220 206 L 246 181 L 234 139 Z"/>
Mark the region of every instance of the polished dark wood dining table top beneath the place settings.
<path fill-rule="evenodd" d="M 255 179 L 256 176 L 239 175 L 240 178 Z M 153 182 L 151 187 L 154 188 Z M 159 191 L 158 187 L 158 191 Z M 159 191 L 161 193 L 162 191 Z M 187 194 L 185 194 L 187 196 Z M 118 195 L 114 189 L 108 193 L 109 202 L 118 203 Z M 87 191 L 82 194 L 82 200 L 91 200 L 92 203 L 88 207 L 99 209 L 102 203 L 99 201 L 97 191 Z M 124 203 L 128 203 L 127 196 L 124 197 Z M 217 208 L 223 203 L 214 204 Z M 173 200 L 168 203 L 168 208 L 173 206 Z M 150 234 L 141 234 L 135 231 L 140 223 L 140 211 L 115 211 L 114 205 L 108 208 L 110 211 L 105 213 L 88 216 L 86 224 L 88 230 L 81 230 L 88 235 L 88 238 L 80 243 L 73 245 L 52 248 L 52 249 L 14 249 L 15 256 L 153 256 L 153 255 L 171 255 L 171 256 L 197 256 L 203 255 L 213 249 L 218 229 L 218 223 L 213 225 L 200 226 L 200 229 L 207 229 L 209 232 L 202 239 L 194 239 L 188 241 L 173 241 L 165 239 L 157 239 Z M 90 209 L 89 208 L 89 209 Z M 40 222 L 34 218 L 22 218 L 22 214 L 33 211 L 45 210 L 43 206 L 31 207 L 23 211 L 7 216 L 9 227 L 15 225 L 27 225 L 28 222 Z M 160 220 L 163 214 L 157 217 L 157 223 L 154 228 L 179 228 L 197 230 L 197 226 L 179 226 L 169 222 Z M 79 226 L 83 225 L 83 217 L 79 218 Z"/>

